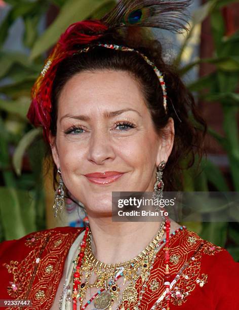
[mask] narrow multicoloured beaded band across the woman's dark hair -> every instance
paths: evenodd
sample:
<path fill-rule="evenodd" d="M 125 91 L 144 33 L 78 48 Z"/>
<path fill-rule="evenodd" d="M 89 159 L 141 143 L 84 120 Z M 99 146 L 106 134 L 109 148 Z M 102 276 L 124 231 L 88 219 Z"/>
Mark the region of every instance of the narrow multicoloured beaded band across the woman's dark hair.
<path fill-rule="evenodd" d="M 158 77 L 158 80 L 160 81 L 160 85 L 161 85 L 161 88 L 163 91 L 163 105 L 164 105 L 165 113 L 167 114 L 167 91 L 166 91 L 166 85 L 164 82 L 163 73 L 155 66 L 155 64 L 152 61 L 150 61 L 148 59 L 147 56 L 145 56 L 143 53 L 141 53 L 135 49 L 132 49 L 132 48 L 129 48 L 126 46 L 115 45 L 115 44 L 102 44 L 102 43 L 99 43 L 95 46 L 94 45 L 89 46 L 87 48 L 79 50 L 77 53 L 88 52 L 91 47 L 97 47 L 97 46 L 104 47 L 106 49 L 116 50 L 116 51 L 136 52 L 137 54 L 139 54 L 153 68 L 154 72 L 156 73 L 156 75 Z M 45 72 L 45 70 L 47 70 L 47 69 L 45 68 L 44 72 Z"/>

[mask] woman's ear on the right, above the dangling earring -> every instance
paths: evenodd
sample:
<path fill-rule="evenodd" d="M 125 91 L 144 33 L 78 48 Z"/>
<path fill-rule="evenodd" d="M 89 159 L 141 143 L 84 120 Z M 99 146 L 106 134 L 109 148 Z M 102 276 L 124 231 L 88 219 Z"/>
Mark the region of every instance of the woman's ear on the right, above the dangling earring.
<path fill-rule="evenodd" d="M 160 145 L 158 146 L 156 165 L 158 166 L 162 161 L 167 163 L 168 158 L 172 152 L 174 145 L 174 120 L 169 118 L 168 124 L 163 129 Z"/>

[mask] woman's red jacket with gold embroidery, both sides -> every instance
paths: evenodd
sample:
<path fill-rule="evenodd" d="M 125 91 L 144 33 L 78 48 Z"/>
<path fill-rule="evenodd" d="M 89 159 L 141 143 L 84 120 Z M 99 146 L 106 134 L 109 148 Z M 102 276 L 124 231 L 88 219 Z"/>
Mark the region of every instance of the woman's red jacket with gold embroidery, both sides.
<path fill-rule="evenodd" d="M 24 309 L 50 309 L 72 243 L 84 228 L 58 227 L 34 232 L 0 246 L 0 299 L 27 299 Z M 238 310 L 239 263 L 223 248 L 195 232 L 179 229 L 170 239 L 170 310 Z M 139 309 L 149 310 L 164 294 L 164 249 L 158 251 Z M 178 276 L 177 276 L 178 275 Z M 177 277 L 176 277 L 177 276 Z M 142 279 L 136 282 L 138 295 Z M 124 302 L 126 309 L 133 306 Z M 5 307 L 20 309 L 17 306 Z M 158 300 L 155 309 L 166 309 Z"/>

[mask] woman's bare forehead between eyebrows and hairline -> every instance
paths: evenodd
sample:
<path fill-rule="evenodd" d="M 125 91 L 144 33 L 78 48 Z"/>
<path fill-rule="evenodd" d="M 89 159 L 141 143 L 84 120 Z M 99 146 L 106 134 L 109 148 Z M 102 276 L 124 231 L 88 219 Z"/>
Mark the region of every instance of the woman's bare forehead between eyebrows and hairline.
<path fill-rule="evenodd" d="M 134 108 L 145 112 L 146 104 L 139 82 L 127 71 L 83 71 L 64 85 L 58 100 L 58 113 L 89 112 L 89 109 Z"/>

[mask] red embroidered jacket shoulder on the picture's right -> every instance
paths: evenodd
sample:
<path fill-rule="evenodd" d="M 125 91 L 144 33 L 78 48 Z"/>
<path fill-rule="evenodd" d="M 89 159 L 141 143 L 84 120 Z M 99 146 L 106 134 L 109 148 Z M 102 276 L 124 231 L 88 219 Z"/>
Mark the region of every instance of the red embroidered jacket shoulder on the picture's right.
<path fill-rule="evenodd" d="M 194 231 L 178 229 L 170 242 L 170 269 L 175 282 L 171 302 L 176 308 L 239 309 L 239 263 L 225 248 Z"/>

